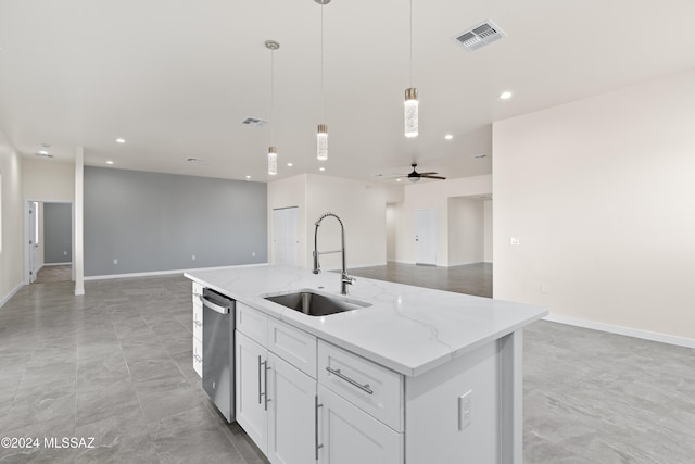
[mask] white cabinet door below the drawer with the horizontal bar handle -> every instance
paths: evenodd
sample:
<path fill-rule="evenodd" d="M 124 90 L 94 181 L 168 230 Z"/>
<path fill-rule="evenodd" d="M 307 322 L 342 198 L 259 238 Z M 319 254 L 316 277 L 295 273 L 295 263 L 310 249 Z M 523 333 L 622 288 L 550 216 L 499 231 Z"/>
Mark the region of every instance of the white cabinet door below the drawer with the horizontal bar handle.
<path fill-rule="evenodd" d="M 403 464 L 403 435 L 318 386 L 319 464 Z"/>

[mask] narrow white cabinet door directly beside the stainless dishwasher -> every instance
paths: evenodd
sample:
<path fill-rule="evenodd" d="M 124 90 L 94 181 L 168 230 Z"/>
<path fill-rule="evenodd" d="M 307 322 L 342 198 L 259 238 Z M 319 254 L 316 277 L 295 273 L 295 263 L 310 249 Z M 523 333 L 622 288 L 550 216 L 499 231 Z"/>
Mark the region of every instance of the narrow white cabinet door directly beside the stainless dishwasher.
<path fill-rule="evenodd" d="M 266 381 L 267 351 L 236 331 L 235 361 L 237 422 L 254 443 L 267 454 Z"/>

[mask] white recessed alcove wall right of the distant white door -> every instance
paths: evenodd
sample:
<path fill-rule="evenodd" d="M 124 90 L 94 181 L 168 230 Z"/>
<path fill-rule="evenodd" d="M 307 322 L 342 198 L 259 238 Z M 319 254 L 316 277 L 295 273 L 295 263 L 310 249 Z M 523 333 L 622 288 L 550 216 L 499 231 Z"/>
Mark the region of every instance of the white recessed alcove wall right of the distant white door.
<path fill-rule="evenodd" d="M 448 265 L 481 263 L 485 252 L 484 208 L 481 200 L 448 199 Z"/>

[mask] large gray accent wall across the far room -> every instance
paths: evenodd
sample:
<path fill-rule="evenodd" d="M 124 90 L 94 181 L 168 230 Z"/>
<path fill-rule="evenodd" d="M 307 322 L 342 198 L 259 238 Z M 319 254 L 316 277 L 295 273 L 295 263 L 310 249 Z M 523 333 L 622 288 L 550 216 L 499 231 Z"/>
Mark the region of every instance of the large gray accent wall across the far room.
<path fill-rule="evenodd" d="M 85 275 L 265 263 L 266 211 L 261 183 L 85 166 Z"/>

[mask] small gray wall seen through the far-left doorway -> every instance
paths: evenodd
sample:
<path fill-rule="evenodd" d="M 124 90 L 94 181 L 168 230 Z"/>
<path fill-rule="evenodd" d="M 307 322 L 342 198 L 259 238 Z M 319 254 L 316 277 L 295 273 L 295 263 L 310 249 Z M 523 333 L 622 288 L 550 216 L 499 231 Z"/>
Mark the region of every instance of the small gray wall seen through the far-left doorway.
<path fill-rule="evenodd" d="M 73 261 L 73 205 L 43 203 L 43 263 Z"/>

